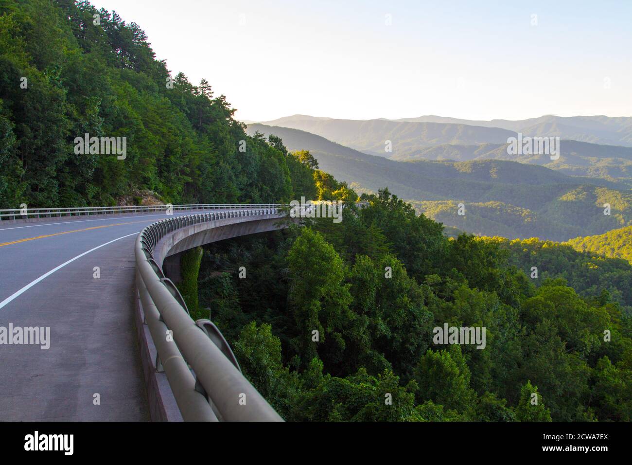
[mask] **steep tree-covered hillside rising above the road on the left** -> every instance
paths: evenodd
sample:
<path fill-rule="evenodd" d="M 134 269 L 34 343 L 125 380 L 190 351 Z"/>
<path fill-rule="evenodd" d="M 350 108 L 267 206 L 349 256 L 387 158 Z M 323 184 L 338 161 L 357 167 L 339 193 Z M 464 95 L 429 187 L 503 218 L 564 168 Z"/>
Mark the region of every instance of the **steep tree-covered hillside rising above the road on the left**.
<path fill-rule="evenodd" d="M 145 191 L 174 204 L 305 193 L 300 163 L 248 137 L 209 82 L 172 75 L 137 23 L 87 2 L 6 0 L 0 44 L 0 208 L 114 205 Z M 77 152 L 85 133 L 125 153 Z"/>

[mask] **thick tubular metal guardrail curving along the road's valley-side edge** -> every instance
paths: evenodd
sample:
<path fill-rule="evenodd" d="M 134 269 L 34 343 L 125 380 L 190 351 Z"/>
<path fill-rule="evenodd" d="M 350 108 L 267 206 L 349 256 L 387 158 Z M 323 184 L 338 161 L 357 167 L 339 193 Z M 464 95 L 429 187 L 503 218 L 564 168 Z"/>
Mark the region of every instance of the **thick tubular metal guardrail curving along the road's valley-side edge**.
<path fill-rule="evenodd" d="M 368 202 L 356 204 L 359 208 Z M 216 206 L 205 206 L 205 208 Z M 283 421 L 241 375 L 221 332 L 208 319 L 193 321 L 176 286 L 154 259 L 155 247 L 169 233 L 207 221 L 243 216 L 283 216 L 282 205 L 243 205 L 232 211 L 176 216 L 152 223 L 135 243 L 138 295 L 157 350 L 156 367 L 164 369 L 185 421 Z M 220 206 L 226 208 L 226 206 Z M 309 209 L 310 206 L 307 206 Z M 305 211 L 303 210 L 303 213 Z M 255 218 L 253 218 L 254 220 Z M 173 340 L 166 335 L 171 332 Z M 195 376 L 191 373 L 191 369 Z M 245 405 L 240 404 L 245 396 Z"/>

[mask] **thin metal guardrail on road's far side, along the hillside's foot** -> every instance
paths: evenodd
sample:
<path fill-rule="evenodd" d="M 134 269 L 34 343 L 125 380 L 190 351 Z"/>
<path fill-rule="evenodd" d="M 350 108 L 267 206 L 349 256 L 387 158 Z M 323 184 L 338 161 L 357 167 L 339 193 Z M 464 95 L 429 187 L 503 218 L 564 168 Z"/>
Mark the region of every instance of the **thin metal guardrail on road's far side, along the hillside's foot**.
<path fill-rule="evenodd" d="M 0 209 L 0 221 L 28 218 L 61 218 L 63 216 L 90 216 L 95 214 L 150 213 L 154 211 L 191 211 L 237 208 L 275 208 L 276 204 L 182 204 L 139 205 L 126 207 L 70 207 L 70 208 L 5 208 Z"/>

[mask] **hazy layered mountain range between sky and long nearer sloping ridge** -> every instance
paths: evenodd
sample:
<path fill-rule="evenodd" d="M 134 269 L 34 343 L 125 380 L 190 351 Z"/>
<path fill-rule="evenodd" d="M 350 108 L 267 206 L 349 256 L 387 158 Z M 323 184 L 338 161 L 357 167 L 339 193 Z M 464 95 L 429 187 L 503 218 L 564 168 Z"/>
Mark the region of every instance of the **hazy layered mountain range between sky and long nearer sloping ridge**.
<path fill-rule="evenodd" d="M 520 121 L 476 121 L 441 116 L 339 120 L 294 115 L 264 124 L 303 130 L 398 161 L 511 160 L 632 187 L 632 118 L 628 117 L 540 116 Z M 560 137 L 559 159 L 552 160 L 549 154 L 509 154 L 507 140 L 518 133 L 525 137 Z"/>

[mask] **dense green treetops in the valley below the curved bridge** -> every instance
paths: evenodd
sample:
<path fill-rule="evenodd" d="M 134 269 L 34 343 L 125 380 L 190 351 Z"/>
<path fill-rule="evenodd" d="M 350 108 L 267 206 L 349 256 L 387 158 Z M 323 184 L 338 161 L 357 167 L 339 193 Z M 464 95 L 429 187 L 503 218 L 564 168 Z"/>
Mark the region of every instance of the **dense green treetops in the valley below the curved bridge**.
<path fill-rule="evenodd" d="M 632 266 L 537 239 L 451 239 L 388 190 L 362 199 L 339 225 L 200 255 L 196 318 L 284 418 L 629 421 Z M 485 327 L 487 347 L 434 344 L 444 323 Z"/>

